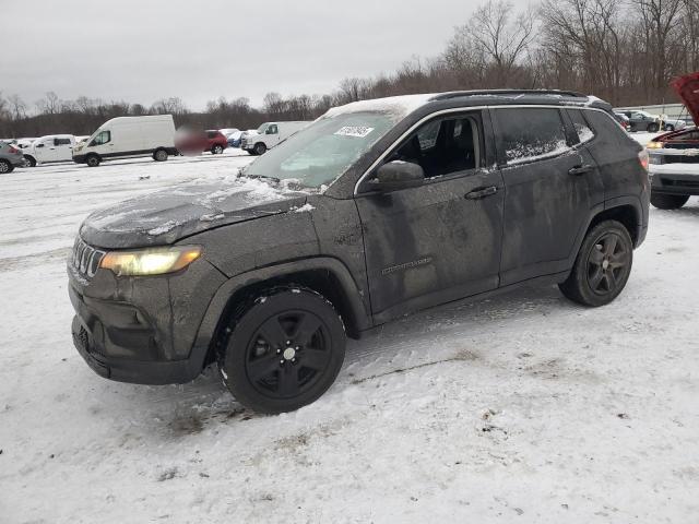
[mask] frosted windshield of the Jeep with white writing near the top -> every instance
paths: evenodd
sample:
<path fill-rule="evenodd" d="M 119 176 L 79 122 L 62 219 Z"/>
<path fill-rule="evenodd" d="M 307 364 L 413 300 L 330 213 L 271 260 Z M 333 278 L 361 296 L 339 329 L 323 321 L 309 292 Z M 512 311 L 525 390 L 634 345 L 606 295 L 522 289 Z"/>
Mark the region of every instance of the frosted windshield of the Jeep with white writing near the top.
<path fill-rule="evenodd" d="M 244 174 L 320 188 L 343 175 L 393 126 L 393 119 L 384 112 L 322 117 L 268 151 Z"/>

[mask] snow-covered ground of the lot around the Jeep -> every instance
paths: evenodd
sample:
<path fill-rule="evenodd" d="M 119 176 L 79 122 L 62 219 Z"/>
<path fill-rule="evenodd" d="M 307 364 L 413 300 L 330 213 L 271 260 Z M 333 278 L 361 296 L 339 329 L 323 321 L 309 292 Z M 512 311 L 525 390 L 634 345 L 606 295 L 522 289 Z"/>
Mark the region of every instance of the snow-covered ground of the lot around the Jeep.
<path fill-rule="evenodd" d="M 82 218 L 248 160 L 2 177 L 1 523 L 697 522 L 698 199 L 651 211 L 613 305 L 545 287 L 406 318 L 293 414 L 241 409 L 214 372 L 97 377 L 70 335 Z"/>

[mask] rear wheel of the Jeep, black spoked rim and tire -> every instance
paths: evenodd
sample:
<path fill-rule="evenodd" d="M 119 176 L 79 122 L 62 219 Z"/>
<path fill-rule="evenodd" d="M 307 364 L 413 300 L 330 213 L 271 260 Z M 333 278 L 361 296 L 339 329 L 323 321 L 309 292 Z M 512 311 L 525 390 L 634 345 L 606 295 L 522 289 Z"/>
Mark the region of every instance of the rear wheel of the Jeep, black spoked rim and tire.
<path fill-rule="evenodd" d="M 632 264 L 629 231 L 619 222 L 605 221 L 588 231 L 568 279 L 558 287 L 573 302 L 606 306 L 624 290 Z"/>

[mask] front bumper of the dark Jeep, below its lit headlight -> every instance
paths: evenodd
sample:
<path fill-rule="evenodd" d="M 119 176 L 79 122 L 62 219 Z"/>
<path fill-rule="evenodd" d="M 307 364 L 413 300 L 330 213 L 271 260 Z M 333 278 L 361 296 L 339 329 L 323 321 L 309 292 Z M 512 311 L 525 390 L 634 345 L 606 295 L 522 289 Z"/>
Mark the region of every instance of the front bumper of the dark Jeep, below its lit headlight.
<path fill-rule="evenodd" d="M 194 343 L 211 298 L 225 282 L 204 260 L 157 277 L 86 276 L 68 264 L 73 343 L 99 376 L 141 384 L 186 383 L 206 364 Z"/>

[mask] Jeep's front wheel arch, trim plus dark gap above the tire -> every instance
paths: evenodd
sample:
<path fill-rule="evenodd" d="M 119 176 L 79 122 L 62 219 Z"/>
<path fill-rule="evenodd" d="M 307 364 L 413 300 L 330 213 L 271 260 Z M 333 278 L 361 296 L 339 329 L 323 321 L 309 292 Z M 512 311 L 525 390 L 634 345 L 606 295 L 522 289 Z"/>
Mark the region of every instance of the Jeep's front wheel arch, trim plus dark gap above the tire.
<path fill-rule="evenodd" d="M 358 338 L 371 326 L 362 291 L 346 266 L 337 259 L 312 258 L 253 270 L 229 278 L 211 300 L 199 327 L 190 359 L 203 369 L 215 359 L 225 336 L 226 321 L 236 306 L 248 302 L 264 290 L 298 285 L 320 293 L 335 307 L 347 336 Z"/>

